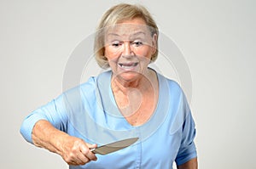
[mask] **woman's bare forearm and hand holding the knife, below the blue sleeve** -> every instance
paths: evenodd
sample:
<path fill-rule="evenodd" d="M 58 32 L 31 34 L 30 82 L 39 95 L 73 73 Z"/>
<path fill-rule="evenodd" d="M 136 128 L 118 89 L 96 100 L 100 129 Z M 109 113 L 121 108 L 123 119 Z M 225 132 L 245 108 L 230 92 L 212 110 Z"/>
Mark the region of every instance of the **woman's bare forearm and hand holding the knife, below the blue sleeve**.
<path fill-rule="evenodd" d="M 96 161 L 90 148 L 96 144 L 86 144 L 84 140 L 68 135 L 53 127 L 49 121 L 40 120 L 32 129 L 32 142 L 38 147 L 61 155 L 68 165 L 84 165 Z"/>

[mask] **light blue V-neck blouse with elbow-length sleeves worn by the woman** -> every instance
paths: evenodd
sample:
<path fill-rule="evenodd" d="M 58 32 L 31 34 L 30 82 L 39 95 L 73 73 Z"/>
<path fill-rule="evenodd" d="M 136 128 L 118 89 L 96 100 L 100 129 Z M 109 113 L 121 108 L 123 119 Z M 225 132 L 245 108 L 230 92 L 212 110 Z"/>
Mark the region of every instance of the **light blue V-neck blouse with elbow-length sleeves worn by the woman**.
<path fill-rule="evenodd" d="M 97 155 L 97 161 L 79 168 L 171 168 L 173 161 L 182 165 L 196 157 L 195 122 L 189 104 L 177 82 L 157 74 L 159 100 L 154 114 L 141 126 L 133 127 L 121 115 L 111 89 L 111 71 L 74 87 L 28 115 L 20 127 L 26 141 L 32 143 L 32 127 L 47 120 L 69 135 L 89 144 L 112 143 L 138 137 L 131 146 L 108 155 Z"/>

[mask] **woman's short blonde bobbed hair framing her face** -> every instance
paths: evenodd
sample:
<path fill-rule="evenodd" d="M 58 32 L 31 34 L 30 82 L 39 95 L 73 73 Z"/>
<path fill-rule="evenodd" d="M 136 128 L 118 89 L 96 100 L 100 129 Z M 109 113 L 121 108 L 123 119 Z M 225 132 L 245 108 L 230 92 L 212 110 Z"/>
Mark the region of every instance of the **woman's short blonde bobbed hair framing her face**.
<path fill-rule="evenodd" d="M 133 5 L 127 3 L 120 3 L 118 5 L 109 8 L 108 11 L 103 14 L 102 20 L 96 29 L 96 37 L 94 43 L 94 53 L 96 55 L 96 62 L 100 67 L 107 69 L 108 59 L 104 56 L 104 31 L 103 29 L 118 24 L 122 20 L 133 20 L 135 18 L 141 18 L 146 22 L 146 25 L 151 31 L 151 35 L 156 34 L 156 38 L 159 36 L 158 27 L 153 20 L 153 17 L 148 12 L 147 8 L 142 5 Z M 154 62 L 158 55 L 158 41 L 156 39 L 156 52 L 152 55 L 151 61 Z"/>

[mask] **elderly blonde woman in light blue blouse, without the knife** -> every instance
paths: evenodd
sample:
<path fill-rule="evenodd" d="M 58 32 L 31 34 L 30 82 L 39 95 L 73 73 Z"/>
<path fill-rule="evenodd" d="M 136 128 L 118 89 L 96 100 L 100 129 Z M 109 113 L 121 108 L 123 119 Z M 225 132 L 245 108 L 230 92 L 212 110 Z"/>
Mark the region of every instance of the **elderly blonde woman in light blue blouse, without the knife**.
<path fill-rule="evenodd" d="M 146 8 L 119 4 L 96 31 L 96 61 L 110 68 L 34 110 L 20 132 L 61 155 L 70 168 L 197 168 L 195 123 L 182 89 L 148 67 L 158 28 Z M 124 138 L 135 144 L 108 155 L 90 149 Z"/>

